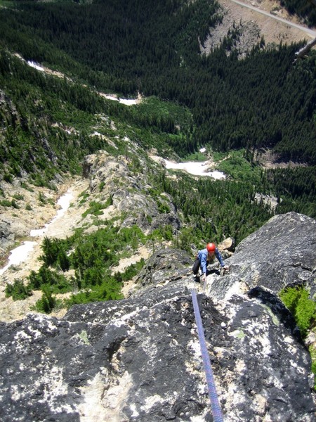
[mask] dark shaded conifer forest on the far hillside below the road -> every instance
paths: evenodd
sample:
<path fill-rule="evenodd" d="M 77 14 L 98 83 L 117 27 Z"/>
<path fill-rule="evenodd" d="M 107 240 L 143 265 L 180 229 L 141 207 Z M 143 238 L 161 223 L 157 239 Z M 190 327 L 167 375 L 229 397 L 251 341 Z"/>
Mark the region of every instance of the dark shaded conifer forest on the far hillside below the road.
<path fill-rule="evenodd" d="M 18 9 L 1 10 L 0 34 L 25 59 L 76 72 L 98 89 L 189 107 L 195 134 L 175 146 L 178 154 L 206 144 L 220 151 L 268 146 L 282 160 L 315 165 L 314 58 L 294 65 L 299 46 L 265 49 L 261 39 L 238 60 L 233 28 L 219 49 L 201 56 L 199 41 L 221 20 L 215 1 L 19 2 Z"/>

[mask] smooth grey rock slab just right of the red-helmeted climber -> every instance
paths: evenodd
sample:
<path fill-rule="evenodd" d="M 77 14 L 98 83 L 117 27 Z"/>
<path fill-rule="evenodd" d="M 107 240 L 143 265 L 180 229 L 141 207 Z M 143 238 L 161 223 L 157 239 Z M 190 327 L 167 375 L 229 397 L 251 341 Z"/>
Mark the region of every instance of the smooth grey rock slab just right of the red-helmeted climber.
<path fill-rule="evenodd" d="M 302 285 L 316 293 L 316 221 L 289 212 L 276 215 L 244 239 L 228 260 L 230 274 L 210 283 L 213 297 L 228 298 L 263 286 L 274 293 L 289 285 Z M 214 279 L 215 280 L 215 279 Z"/>

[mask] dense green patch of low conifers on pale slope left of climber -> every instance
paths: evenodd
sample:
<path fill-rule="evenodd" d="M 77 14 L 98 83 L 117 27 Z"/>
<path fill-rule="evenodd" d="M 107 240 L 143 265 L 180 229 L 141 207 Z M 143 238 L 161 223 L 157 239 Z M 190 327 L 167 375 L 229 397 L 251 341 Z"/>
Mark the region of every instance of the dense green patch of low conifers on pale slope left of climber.
<path fill-rule="evenodd" d="M 107 222 L 106 229 L 92 234 L 77 230 L 65 240 L 44 238 L 41 246 L 44 264 L 39 271 L 31 271 L 29 286 L 37 290 L 49 287 L 51 293 L 72 291 L 74 286 L 78 290 L 84 289 L 72 296 L 67 306 L 93 300 L 119 299 L 121 281 L 131 279 L 144 262 L 141 260 L 123 274 L 111 276 L 110 267 L 117 265 L 122 256 L 117 251 L 131 255 L 144 242 L 145 235 L 138 226 L 119 229 L 113 222 Z M 68 250 L 72 250 L 70 256 L 67 256 Z M 52 266 L 63 270 L 71 266 L 75 270 L 74 278 L 68 281 L 63 274 L 53 271 Z"/>

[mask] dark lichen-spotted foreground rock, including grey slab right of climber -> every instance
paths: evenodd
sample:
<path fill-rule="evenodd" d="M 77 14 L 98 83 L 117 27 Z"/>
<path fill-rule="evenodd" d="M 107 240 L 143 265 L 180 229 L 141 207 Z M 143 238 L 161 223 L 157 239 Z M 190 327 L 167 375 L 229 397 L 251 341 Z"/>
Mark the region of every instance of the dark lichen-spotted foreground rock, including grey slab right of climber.
<path fill-rule="evenodd" d="M 315 421 L 310 355 L 276 295 L 312 285 L 312 239 L 312 219 L 277 216 L 237 246 L 230 274 L 209 275 L 210 295 L 190 257 L 166 249 L 128 299 L 1 323 L 1 421 L 211 422 L 193 288 L 224 420 Z"/>

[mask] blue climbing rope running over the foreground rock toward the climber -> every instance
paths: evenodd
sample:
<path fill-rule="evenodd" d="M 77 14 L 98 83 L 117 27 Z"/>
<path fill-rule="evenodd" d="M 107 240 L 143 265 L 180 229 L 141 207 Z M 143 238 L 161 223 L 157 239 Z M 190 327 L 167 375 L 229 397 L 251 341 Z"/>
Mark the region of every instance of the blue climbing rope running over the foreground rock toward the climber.
<path fill-rule="evenodd" d="M 223 422 L 223 414 L 218 402 L 216 386 L 215 386 L 214 377 L 213 377 L 213 371 L 211 368 L 211 361 L 209 359 L 209 352 L 207 351 L 207 347 L 206 347 L 201 314 L 199 313 L 199 304 L 197 303 L 197 292 L 195 291 L 195 289 L 193 289 L 191 293 L 192 293 L 193 309 L 195 310 L 195 321 L 197 323 L 197 333 L 199 335 L 199 346 L 201 347 L 204 371 L 206 375 L 206 383 L 207 383 L 207 388 L 209 390 L 209 399 L 211 402 L 213 421 Z"/>

